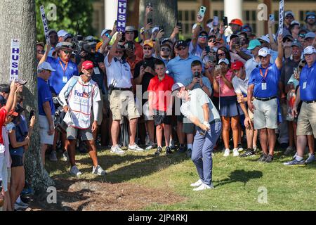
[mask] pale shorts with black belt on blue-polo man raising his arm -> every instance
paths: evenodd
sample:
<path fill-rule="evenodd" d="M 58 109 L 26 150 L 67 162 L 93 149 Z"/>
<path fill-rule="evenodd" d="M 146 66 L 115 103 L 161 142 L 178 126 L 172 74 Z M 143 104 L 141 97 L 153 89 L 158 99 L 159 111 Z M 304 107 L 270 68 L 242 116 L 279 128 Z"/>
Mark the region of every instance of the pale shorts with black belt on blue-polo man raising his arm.
<path fill-rule="evenodd" d="M 277 129 L 277 98 L 269 101 L 254 99 L 254 129 Z"/>

